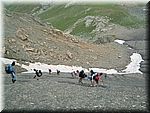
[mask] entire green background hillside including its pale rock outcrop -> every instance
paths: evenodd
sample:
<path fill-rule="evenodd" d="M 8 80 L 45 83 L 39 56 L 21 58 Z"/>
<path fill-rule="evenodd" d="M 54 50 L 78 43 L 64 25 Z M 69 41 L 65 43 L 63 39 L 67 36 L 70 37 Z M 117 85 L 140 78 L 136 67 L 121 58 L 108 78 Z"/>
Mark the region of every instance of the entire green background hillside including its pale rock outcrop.
<path fill-rule="evenodd" d="M 29 8 L 28 8 L 29 7 Z M 120 38 L 114 31 L 118 27 L 139 28 L 145 26 L 145 12 L 141 5 L 122 4 L 47 4 L 8 5 L 12 12 L 29 13 L 42 23 L 53 25 L 66 33 L 90 41 L 98 38 Z M 23 10 L 25 9 L 25 10 Z M 30 9 L 27 10 L 27 9 Z M 139 13 L 138 13 L 139 12 Z M 141 15 L 142 14 L 142 15 Z M 113 41 L 113 40 L 108 40 Z"/>

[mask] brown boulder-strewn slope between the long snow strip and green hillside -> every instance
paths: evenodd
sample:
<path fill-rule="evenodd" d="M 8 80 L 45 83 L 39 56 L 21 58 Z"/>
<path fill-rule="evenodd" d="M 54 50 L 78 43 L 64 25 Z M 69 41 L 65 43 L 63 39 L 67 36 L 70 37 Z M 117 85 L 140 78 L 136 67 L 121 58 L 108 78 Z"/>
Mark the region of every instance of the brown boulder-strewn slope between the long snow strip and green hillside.
<path fill-rule="evenodd" d="M 18 62 L 42 62 L 121 69 L 131 50 L 118 43 L 95 45 L 44 26 L 28 14 L 5 13 L 4 57 Z M 120 57 L 122 56 L 122 57 Z"/>

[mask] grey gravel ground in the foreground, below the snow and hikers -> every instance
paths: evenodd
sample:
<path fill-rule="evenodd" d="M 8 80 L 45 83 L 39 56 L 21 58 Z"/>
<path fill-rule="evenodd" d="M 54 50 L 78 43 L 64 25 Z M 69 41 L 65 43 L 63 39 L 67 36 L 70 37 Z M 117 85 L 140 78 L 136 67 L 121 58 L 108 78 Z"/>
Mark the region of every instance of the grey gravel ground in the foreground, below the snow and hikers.
<path fill-rule="evenodd" d="M 104 85 L 91 87 L 89 80 L 78 83 L 70 74 L 18 74 L 16 83 L 4 75 L 3 111 L 146 111 L 145 74 L 107 75 Z"/>

